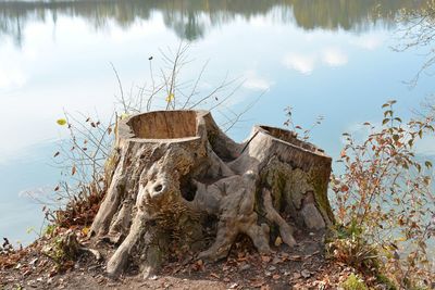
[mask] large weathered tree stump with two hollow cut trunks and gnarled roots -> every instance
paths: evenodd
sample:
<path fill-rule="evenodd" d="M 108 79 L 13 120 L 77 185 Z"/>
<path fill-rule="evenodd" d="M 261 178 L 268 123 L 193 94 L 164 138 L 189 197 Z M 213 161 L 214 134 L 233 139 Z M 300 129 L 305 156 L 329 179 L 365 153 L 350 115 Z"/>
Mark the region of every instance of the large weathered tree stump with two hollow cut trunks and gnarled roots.
<path fill-rule="evenodd" d="M 204 111 L 162 111 L 117 126 L 119 160 L 90 234 L 119 244 L 107 266 L 121 274 L 135 261 L 148 276 L 171 244 L 225 257 L 240 234 L 261 253 L 271 237 L 295 245 L 294 227 L 331 225 L 331 157 L 291 131 L 256 126 L 236 143 Z M 213 218 L 210 218 L 213 217 Z M 207 223 L 217 220 L 209 249 Z"/>

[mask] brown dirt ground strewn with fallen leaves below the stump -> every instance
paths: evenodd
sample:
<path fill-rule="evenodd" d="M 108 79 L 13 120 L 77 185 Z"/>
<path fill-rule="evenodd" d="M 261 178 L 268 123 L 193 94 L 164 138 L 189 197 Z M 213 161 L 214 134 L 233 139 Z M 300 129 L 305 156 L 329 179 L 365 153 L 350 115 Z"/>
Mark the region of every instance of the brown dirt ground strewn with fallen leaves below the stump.
<path fill-rule="evenodd" d="M 90 254 L 59 273 L 39 240 L 0 255 L 0 289 L 337 289 L 353 272 L 325 259 L 322 232 L 296 232 L 296 239 L 297 247 L 275 245 L 275 252 L 264 256 L 240 238 L 226 260 L 208 264 L 187 255 L 147 280 L 135 267 L 111 279 L 104 275 L 105 263 Z"/>

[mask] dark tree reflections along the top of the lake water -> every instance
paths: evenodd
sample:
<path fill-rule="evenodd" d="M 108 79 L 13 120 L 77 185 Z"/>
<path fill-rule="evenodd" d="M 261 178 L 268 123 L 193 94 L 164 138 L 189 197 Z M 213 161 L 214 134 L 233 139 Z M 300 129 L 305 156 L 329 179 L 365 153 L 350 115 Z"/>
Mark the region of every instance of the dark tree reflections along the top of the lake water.
<path fill-rule="evenodd" d="M 0 2 L 0 34 L 21 46 L 29 22 L 71 16 L 86 20 L 96 29 L 107 28 L 110 22 L 127 28 L 137 20 L 150 18 L 154 11 L 163 14 L 166 27 L 187 40 L 202 38 L 208 29 L 236 17 L 249 20 L 268 13 L 303 29 L 365 30 L 378 23 L 394 25 L 402 9 L 419 11 L 426 5 L 426 1 L 409 0 L 7 1 Z"/>

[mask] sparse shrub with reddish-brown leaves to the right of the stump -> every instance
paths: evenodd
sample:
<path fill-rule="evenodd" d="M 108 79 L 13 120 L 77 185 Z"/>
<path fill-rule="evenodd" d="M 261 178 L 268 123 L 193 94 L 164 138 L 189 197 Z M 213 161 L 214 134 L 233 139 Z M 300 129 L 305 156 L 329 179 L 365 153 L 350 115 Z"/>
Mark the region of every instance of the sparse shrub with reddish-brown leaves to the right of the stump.
<path fill-rule="evenodd" d="M 415 143 L 434 133 L 434 116 L 403 123 L 395 103 L 383 105 L 381 126 L 364 123 L 364 140 L 344 134 L 344 174 L 332 181 L 338 226 L 328 249 L 339 261 L 388 273 L 409 289 L 434 279 L 427 247 L 435 217 L 432 163 L 415 153 Z"/>

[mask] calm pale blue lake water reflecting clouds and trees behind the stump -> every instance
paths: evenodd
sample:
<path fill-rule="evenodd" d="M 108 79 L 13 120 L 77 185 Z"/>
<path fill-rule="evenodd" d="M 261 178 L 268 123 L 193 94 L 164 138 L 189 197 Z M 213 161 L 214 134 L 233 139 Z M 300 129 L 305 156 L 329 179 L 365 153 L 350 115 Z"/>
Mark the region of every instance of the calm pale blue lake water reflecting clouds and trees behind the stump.
<path fill-rule="evenodd" d="M 59 179 L 52 166 L 55 121 L 63 111 L 104 118 L 119 92 L 111 64 L 125 88 L 150 79 L 148 58 L 190 42 L 192 61 L 183 77 L 203 64 L 203 91 L 225 75 L 245 79 L 229 109 L 256 105 L 229 131 L 243 140 L 253 124 L 282 126 L 284 109 L 298 124 L 325 117 L 312 141 L 339 154 L 341 133 L 380 122 L 381 105 L 397 99 L 410 110 L 432 96 L 435 81 L 414 77 L 422 51 L 395 52 L 395 15 L 420 9 L 412 0 L 249 1 L 8 1 L 0 2 L 0 237 L 29 242 L 39 230 L 41 205 L 25 191 L 48 194 Z M 214 113 L 217 121 L 224 116 Z M 433 140 L 432 140 L 433 141 Z M 419 153 L 435 154 L 431 140 Z"/>

